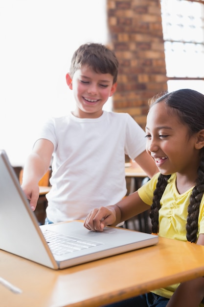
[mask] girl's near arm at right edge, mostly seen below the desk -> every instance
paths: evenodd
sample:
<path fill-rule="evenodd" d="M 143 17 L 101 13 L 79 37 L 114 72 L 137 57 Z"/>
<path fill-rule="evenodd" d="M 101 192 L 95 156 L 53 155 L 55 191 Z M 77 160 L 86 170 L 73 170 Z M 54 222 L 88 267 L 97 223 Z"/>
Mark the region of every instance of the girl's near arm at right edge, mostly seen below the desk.
<path fill-rule="evenodd" d="M 194 243 L 189 243 L 194 244 Z M 197 244 L 204 245 L 204 234 L 200 234 Z M 204 277 L 182 282 L 172 295 L 166 307 L 198 307 L 204 298 Z"/>

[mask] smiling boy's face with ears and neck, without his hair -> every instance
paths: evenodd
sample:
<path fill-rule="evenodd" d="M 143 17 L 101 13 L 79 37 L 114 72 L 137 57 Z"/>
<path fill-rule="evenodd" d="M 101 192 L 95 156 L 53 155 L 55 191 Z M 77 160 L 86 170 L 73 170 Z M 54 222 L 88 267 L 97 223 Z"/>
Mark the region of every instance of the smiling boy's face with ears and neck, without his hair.
<path fill-rule="evenodd" d="M 73 115 L 79 118 L 98 118 L 102 107 L 113 95 L 116 83 L 111 74 L 96 73 L 89 66 L 83 66 L 74 73 L 71 82 L 67 83 L 73 90 L 76 107 Z"/>

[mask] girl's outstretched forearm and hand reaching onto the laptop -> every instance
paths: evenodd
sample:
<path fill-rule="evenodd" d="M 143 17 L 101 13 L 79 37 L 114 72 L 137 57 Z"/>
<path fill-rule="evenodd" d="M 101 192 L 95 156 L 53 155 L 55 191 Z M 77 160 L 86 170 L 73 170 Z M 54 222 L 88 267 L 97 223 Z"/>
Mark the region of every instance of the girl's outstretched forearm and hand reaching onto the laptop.
<path fill-rule="evenodd" d="M 149 208 L 136 191 L 115 205 L 93 209 L 87 216 L 84 226 L 89 230 L 103 231 L 105 226 L 116 226 Z"/>

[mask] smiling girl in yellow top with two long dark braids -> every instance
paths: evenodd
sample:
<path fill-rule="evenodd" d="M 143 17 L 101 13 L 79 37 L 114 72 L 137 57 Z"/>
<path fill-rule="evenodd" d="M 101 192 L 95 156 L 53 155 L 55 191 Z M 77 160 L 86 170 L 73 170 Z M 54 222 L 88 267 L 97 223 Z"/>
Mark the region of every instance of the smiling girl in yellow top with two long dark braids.
<path fill-rule="evenodd" d="M 204 95 L 181 89 L 152 101 L 146 139 L 159 173 L 119 203 L 93 209 L 84 226 L 103 231 L 151 205 L 154 233 L 204 245 Z M 201 277 L 111 306 L 198 307 L 203 298 Z"/>

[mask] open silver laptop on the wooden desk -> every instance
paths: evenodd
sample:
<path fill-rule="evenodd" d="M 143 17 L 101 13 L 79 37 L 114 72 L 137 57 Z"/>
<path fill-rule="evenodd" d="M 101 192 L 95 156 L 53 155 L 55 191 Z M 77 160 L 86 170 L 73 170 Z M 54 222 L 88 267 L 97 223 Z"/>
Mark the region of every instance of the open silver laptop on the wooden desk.
<path fill-rule="evenodd" d="M 53 243 L 53 238 L 63 241 Z M 4 150 L 0 151 L 0 249 L 52 269 L 144 248 L 158 236 L 123 228 L 87 230 L 83 222 L 42 225 L 36 219 Z"/>

